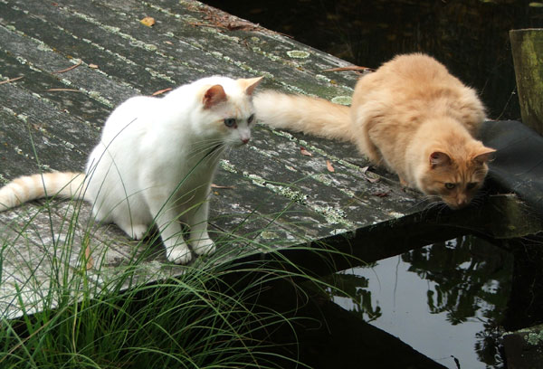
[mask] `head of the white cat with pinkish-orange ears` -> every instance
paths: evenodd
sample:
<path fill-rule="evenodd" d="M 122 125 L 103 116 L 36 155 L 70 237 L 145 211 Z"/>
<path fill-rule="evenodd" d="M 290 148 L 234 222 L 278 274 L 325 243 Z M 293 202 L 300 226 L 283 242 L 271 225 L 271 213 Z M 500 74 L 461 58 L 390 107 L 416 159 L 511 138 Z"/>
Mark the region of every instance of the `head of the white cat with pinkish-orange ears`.
<path fill-rule="evenodd" d="M 205 86 L 202 111 L 206 136 L 216 137 L 231 147 L 249 142 L 255 123 L 252 92 L 261 80 L 217 80 L 221 84 Z"/>

